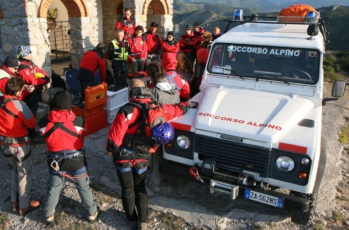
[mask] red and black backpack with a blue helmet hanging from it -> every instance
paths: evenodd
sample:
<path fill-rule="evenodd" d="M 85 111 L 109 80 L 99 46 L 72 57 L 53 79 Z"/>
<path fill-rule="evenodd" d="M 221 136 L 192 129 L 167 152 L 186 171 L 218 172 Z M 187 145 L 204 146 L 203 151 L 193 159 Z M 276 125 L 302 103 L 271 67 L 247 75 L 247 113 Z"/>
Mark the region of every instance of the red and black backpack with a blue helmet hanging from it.
<path fill-rule="evenodd" d="M 154 103 L 137 103 L 129 102 L 128 105 L 132 105 L 142 111 L 142 115 L 129 125 L 132 128 L 139 124 L 137 133 L 135 135 L 126 134 L 122 140 L 122 145 L 128 149 L 137 150 L 140 153 L 155 153 L 160 144 L 157 144 L 152 139 L 152 129 L 154 126 L 161 122 L 166 122 L 166 113 L 161 105 Z"/>

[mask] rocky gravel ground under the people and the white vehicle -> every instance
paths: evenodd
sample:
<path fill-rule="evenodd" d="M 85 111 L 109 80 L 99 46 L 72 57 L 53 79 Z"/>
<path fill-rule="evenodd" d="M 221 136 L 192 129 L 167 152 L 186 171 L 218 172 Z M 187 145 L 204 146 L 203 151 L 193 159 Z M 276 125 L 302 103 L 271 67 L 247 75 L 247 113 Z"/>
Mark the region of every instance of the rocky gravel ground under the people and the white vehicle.
<path fill-rule="evenodd" d="M 347 92 L 348 94 L 348 92 Z M 334 111 L 337 110 L 338 111 Z M 331 102 L 325 107 L 324 119 L 330 116 L 342 116 L 348 114 L 347 102 Z M 347 115 L 348 116 L 348 115 Z M 343 116 L 342 116 L 343 118 Z M 331 125 L 328 121 L 330 132 L 336 136 L 343 125 L 343 119 L 334 120 L 338 124 Z M 334 129 L 334 130 L 331 130 Z M 129 230 L 126 222 L 122 202 L 120 199 L 120 186 L 113 168 L 111 159 L 105 156 L 104 146 L 108 128 L 98 131 L 85 139 L 87 153 L 88 173 L 90 176 L 93 194 L 102 212 L 95 224 L 86 221 L 87 212 L 80 203 L 80 197 L 74 184 L 67 180 L 61 192 L 60 202 L 57 206 L 56 225 L 47 227 L 44 223 L 42 210 L 39 208 L 25 217 L 19 217 L 10 208 L 10 180 L 11 169 L 7 166 L 4 157 L 0 160 L 0 230 Z M 337 134 L 336 134 L 337 133 Z M 337 140 L 337 139 L 334 139 Z M 344 149 L 337 145 L 335 148 Z M 34 168 L 32 176 L 32 198 L 43 201 L 48 181 L 48 169 L 46 165 L 46 146 L 36 145 L 32 148 Z M 333 156 L 334 161 L 339 161 L 340 152 Z M 348 154 L 347 154 L 348 156 Z M 345 159 L 343 159 L 345 160 Z M 327 168 L 330 173 L 333 167 Z M 347 166 L 349 167 L 349 166 Z M 343 170 L 348 174 L 348 170 Z M 343 180 L 347 183 L 348 177 Z M 321 199 L 318 203 L 319 211 L 315 215 L 314 227 L 299 226 L 291 223 L 289 213 L 271 208 L 256 202 L 238 197 L 231 201 L 229 197 L 221 194 L 210 194 L 204 186 L 167 177 L 167 183 L 163 185 L 160 193 L 154 193 L 147 189 L 149 195 L 150 222 L 149 230 L 326 230 L 348 229 L 345 223 L 338 224 L 333 220 L 332 210 L 337 206 L 346 215 L 343 205 L 336 205 L 335 197 L 338 192 L 334 184 L 342 178 L 334 180 L 333 184 L 322 185 L 332 196 Z M 343 191 L 345 192 L 345 190 Z M 326 194 L 324 194 L 325 196 Z M 348 192 L 346 195 L 349 195 Z M 337 200 L 338 202 L 338 200 Z M 320 227 L 321 228 L 320 228 Z"/>

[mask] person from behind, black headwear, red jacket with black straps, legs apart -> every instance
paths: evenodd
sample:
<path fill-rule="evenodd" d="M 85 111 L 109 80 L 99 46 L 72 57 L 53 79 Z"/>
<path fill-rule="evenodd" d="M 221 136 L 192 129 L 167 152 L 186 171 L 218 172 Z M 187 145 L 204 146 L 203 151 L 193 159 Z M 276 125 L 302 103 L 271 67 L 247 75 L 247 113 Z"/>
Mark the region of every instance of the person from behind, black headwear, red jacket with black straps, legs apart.
<path fill-rule="evenodd" d="M 45 138 L 49 183 L 43 205 L 48 225 L 55 222 L 55 208 L 65 178 L 74 181 L 87 209 L 87 221 L 94 223 L 100 209 L 93 198 L 87 175 L 86 156 L 83 150 L 86 133 L 85 120 L 72 112 L 72 98 L 67 91 L 57 92 L 52 100 L 52 110 L 39 122 L 40 135 Z M 64 140 L 64 141 L 62 141 Z"/>

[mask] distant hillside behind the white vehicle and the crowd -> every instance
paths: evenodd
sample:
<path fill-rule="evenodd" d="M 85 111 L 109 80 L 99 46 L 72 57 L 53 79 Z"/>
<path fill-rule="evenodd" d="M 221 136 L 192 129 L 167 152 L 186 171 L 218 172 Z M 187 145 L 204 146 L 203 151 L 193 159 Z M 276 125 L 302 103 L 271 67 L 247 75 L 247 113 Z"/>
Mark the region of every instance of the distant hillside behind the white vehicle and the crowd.
<path fill-rule="evenodd" d="M 201 23 L 205 31 L 213 31 L 215 26 L 220 26 L 223 31 L 227 25 L 225 19 L 231 19 L 236 8 L 223 4 L 199 4 L 184 3 L 181 0 L 174 0 L 174 33 L 176 38 L 184 34 L 184 27 L 195 22 Z M 349 51 L 349 6 L 329 6 L 317 8 L 321 17 L 329 17 L 325 22 L 330 43 L 326 45 L 328 50 Z M 268 12 L 268 11 L 265 11 Z M 244 15 L 258 13 L 255 9 L 244 8 Z M 258 13 L 263 16 L 277 15 L 278 11 L 269 13 Z"/>

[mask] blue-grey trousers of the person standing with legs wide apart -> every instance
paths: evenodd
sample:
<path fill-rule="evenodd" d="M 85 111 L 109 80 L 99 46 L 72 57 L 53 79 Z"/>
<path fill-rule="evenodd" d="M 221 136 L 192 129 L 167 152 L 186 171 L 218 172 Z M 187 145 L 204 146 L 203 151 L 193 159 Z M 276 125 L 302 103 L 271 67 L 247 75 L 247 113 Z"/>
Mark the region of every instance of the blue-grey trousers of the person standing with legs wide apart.
<path fill-rule="evenodd" d="M 73 176 L 84 176 L 86 173 L 87 172 L 85 171 L 81 174 Z M 49 184 L 46 191 L 46 199 L 43 205 L 45 217 L 52 216 L 53 210 L 58 204 L 59 194 L 61 193 L 64 179 L 65 178 L 61 175 L 50 173 Z M 87 209 L 88 215 L 94 215 L 97 212 L 97 205 L 93 199 L 92 189 L 89 187 L 89 177 L 84 176 L 81 178 L 75 178 L 74 183 L 78 189 L 81 203 Z"/>

